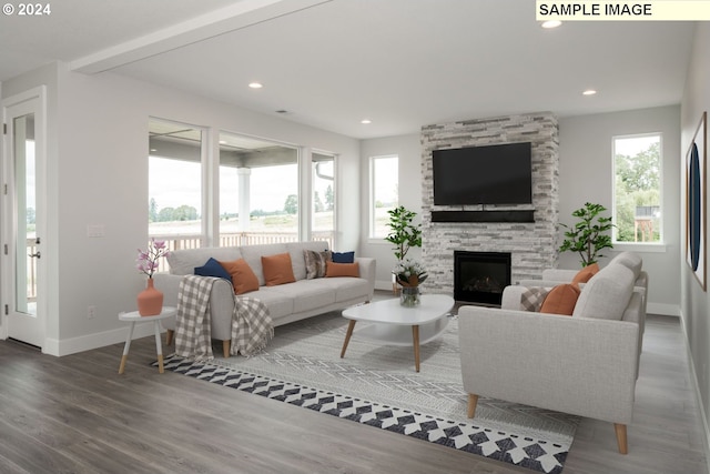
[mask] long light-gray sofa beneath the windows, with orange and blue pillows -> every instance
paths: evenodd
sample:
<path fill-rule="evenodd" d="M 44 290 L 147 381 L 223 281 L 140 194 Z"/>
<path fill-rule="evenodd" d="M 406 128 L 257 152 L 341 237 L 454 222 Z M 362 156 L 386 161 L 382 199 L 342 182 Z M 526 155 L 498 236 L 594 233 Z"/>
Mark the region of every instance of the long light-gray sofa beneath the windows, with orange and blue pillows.
<path fill-rule="evenodd" d="M 203 248 L 176 250 L 168 256 L 170 273 L 156 273 L 155 288 L 164 293 L 165 305 L 178 305 L 180 282 L 184 275 L 194 274 L 210 258 L 221 262 L 244 259 L 258 279 L 256 291 L 243 296 L 262 301 L 271 313 L 274 326 L 344 309 L 357 303 L 369 302 L 375 291 L 375 260 L 356 258 L 359 275 L 306 279 L 304 250 L 323 252 L 326 242 L 293 242 L 227 248 Z M 262 256 L 288 253 L 295 282 L 266 286 L 262 268 Z M 212 288 L 210 297 L 212 339 L 223 343 L 224 356 L 230 355 L 232 313 L 234 311 L 234 288 L 227 280 L 219 280 Z M 175 329 L 175 321 L 163 320 L 169 341 Z"/>

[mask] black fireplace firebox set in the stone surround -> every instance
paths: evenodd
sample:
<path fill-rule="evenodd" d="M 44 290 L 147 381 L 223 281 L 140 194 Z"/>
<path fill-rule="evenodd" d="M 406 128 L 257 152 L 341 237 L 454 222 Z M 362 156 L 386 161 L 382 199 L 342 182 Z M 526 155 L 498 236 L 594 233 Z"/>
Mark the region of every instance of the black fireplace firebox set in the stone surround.
<path fill-rule="evenodd" d="M 500 305 L 510 284 L 510 253 L 454 251 L 454 299 Z"/>

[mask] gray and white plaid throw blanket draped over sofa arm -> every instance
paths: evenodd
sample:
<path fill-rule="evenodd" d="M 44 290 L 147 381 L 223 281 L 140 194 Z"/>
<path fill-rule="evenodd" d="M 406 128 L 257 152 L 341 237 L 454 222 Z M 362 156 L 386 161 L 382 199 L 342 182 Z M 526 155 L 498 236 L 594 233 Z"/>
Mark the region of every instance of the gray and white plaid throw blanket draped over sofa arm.
<path fill-rule="evenodd" d="M 175 316 L 175 354 L 195 361 L 210 361 L 212 330 L 210 293 L 219 279 L 185 275 L 178 293 Z M 268 309 L 253 297 L 235 296 L 232 314 L 231 354 L 252 355 L 263 350 L 274 336 Z"/>

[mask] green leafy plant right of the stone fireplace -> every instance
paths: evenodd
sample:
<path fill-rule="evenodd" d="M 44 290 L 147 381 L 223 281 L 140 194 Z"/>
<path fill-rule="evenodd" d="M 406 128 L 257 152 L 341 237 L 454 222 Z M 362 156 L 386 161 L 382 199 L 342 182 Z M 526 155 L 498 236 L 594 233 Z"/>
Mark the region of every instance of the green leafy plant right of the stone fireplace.
<path fill-rule="evenodd" d="M 609 231 L 615 225 L 611 218 L 600 215 L 606 210 L 601 204 L 586 202 L 584 208 L 572 212 L 572 216 L 578 221 L 574 225 L 560 223 L 567 231 L 559 251 L 579 253 L 581 266 L 597 263 L 598 259 L 604 256 L 600 253 L 602 249 L 613 248 Z"/>

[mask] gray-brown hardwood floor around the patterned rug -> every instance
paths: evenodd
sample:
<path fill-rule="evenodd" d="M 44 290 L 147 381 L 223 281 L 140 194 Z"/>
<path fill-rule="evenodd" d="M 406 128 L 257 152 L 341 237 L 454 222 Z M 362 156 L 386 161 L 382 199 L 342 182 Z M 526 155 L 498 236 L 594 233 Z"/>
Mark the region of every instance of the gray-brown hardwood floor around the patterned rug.
<path fill-rule="evenodd" d="M 649 316 L 629 454 L 584 420 L 565 474 L 708 474 L 678 319 Z M 53 357 L 0 341 L 2 473 L 530 473 L 382 430 L 159 374 L 153 337 Z M 170 351 L 170 349 L 168 350 Z"/>

